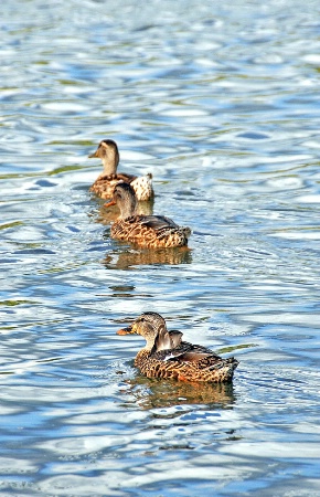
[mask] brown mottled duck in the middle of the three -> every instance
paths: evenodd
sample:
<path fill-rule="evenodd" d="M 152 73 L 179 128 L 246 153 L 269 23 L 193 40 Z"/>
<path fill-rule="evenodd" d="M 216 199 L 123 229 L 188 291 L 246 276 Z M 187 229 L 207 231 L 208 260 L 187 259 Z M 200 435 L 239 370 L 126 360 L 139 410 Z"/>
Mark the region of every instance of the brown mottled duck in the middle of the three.
<path fill-rule="evenodd" d="M 111 236 L 148 248 L 184 246 L 191 234 L 189 228 L 178 226 L 163 215 L 137 214 L 135 190 L 128 183 L 118 183 L 113 200 L 105 207 L 117 204 L 120 216 L 111 225 Z"/>

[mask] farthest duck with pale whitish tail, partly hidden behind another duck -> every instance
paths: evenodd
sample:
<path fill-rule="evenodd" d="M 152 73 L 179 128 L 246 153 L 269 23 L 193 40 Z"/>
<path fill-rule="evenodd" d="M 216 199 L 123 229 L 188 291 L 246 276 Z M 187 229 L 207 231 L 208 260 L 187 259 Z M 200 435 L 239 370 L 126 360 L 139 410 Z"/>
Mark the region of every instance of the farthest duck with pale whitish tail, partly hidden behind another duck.
<path fill-rule="evenodd" d="M 151 173 L 137 177 L 125 172 L 117 172 L 120 156 L 116 141 L 100 141 L 96 151 L 89 155 L 89 158 L 93 157 L 102 159 L 104 165 L 104 171 L 90 187 L 90 191 L 98 197 L 102 199 L 110 199 L 115 186 L 118 184 L 119 181 L 125 181 L 126 183 L 131 184 L 139 201 L 150 200 L 152 198 L 153 189 Z"/>

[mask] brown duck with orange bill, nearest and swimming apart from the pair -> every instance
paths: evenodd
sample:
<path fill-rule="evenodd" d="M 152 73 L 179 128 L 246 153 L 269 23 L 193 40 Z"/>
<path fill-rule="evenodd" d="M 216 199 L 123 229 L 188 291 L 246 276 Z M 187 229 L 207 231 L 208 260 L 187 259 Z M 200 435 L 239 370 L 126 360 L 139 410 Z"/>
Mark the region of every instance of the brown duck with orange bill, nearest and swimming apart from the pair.
<path fill-rule="evenodd" d="M 137 353 L 135 366 L 148 378 L 184 381 L 231 382 L 238 361 L 222 359 L 212 350 L 182 341 L 181 331 L 168 331 L 166 320 L 157 313 L 143 313 L 118 335 L 137 334 L 147 341 Z"/>

